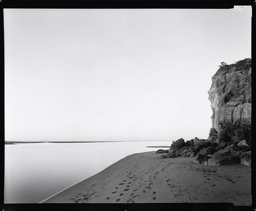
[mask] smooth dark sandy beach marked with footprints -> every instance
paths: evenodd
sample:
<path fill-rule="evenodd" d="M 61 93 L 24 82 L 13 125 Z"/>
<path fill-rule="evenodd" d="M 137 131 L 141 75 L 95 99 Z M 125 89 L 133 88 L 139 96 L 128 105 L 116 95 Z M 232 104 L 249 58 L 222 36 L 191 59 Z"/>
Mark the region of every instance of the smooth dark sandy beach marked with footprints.
<path fill-rule="evenodd" d="M 193 158 L 127 156 L 43 203 L 212 203 L 251 205 L 251 168 L 206 166 Z"/>

